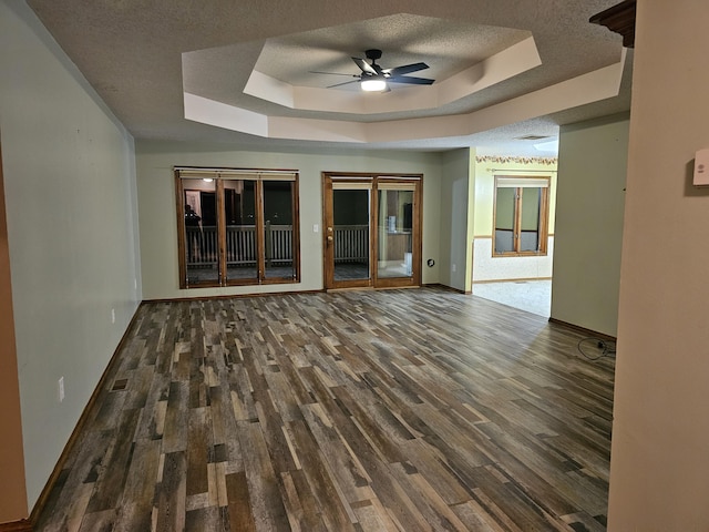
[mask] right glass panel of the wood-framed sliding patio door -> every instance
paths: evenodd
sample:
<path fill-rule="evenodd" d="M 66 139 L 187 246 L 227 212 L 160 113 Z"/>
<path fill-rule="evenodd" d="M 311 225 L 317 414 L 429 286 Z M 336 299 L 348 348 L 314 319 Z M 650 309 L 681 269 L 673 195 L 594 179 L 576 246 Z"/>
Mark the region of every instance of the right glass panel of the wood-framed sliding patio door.
<path fill-rule="evenodd" d="M 377 278 L 413 275 L 413 200 L 411 190 L 379 190 Z"/>

